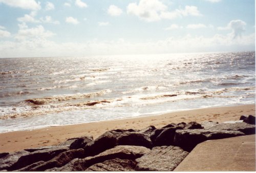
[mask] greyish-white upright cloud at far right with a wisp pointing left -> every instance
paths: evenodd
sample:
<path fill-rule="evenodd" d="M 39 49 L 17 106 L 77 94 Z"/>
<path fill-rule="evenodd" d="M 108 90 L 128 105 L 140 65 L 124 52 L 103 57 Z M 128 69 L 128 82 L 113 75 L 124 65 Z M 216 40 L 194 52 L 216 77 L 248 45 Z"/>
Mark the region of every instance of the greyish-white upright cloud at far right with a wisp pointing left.
<path fill-rule="evenodd" d="M 242 33 L 245 31 L 246 23 L 243 20 L 231 20 L 226 27 L 218 27 L 218 30 L 232 30 L 230 35 L 233 38 L 242 36 Z"/>

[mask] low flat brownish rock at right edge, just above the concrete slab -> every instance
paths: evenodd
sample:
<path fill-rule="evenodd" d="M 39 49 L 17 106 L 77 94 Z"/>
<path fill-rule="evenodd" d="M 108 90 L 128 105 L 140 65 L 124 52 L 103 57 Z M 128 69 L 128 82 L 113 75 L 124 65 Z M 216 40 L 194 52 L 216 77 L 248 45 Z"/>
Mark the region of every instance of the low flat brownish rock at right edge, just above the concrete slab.
<path fill-rule="evenodd" d="M 255 134 L 255 125 L 247 124 L 245 122 L 236 122 L 236 123 L 219 123 L 213 127 L 210 127 L 209 130 L 217 131 L 240 131 L 246 135 Z"/>

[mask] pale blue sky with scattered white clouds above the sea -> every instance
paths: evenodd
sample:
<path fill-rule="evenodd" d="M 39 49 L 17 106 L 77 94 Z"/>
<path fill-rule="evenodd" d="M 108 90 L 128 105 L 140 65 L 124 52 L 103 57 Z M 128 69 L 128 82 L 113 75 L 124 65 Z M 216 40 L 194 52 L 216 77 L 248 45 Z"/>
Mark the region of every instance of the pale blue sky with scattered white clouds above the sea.
<path fill-rule="evenodd" d="M 2 58 L 254 50 L 254 0 L 0 0 Z"/>

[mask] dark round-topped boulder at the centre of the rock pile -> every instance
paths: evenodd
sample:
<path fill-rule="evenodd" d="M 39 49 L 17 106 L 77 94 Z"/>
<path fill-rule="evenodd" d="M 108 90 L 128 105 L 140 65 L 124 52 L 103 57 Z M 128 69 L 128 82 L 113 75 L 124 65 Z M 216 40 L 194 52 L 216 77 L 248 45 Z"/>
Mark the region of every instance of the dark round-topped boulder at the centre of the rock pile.
<path fill-rule="evenodd" d="M 150 137 L 139 132 L 125 132 L 117 139 L 118 145 L 135 145 L 152 148 Z"/>

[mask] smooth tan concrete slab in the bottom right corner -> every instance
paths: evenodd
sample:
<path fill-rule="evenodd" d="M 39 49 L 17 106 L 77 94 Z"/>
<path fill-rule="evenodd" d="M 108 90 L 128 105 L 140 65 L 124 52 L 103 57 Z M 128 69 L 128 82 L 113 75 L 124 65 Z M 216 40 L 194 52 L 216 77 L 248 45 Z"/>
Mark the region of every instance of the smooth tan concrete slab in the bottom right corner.
<path fill-rule="evenodd" d="M 255 171 L 255 135 L 202 142 L 174 171 Z"/>

